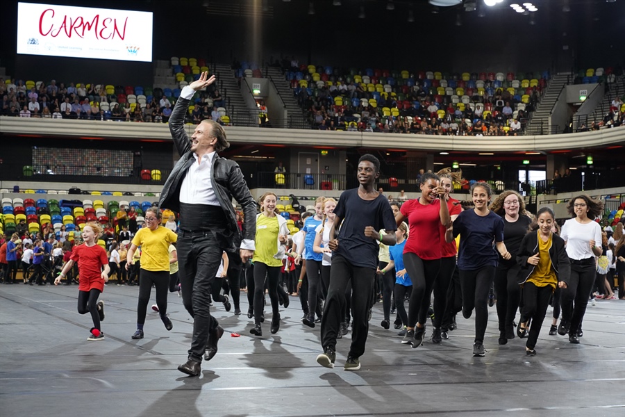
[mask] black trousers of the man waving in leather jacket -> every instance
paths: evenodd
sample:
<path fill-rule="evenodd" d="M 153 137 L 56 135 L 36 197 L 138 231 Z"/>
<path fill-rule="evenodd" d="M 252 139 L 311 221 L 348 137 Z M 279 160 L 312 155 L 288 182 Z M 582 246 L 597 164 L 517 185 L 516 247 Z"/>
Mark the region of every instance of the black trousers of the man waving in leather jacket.
<path fill-rule="evenodd" d="M 183 304 L 193 318 L 189 359 L 201 362 L 208 332 L 219 322 L 210 316 L 210 288 L 222 263 L 222 247 L 210 231 L 178 231 L 178 272 Z"/>

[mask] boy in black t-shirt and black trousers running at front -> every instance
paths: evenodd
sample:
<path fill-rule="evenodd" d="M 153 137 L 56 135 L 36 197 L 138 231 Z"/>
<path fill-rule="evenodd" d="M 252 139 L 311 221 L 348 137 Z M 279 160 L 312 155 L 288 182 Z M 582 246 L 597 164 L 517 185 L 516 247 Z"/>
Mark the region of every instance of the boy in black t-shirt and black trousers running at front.
<path fill-rule="evenodd" d="M 358 358 L 365 353 L 369 332 L 367 312 L 374 288 L 378 242 L 390 246 L 395 244 L 393 232 L 397 224 L 390 204 L 374 189 L 379 173 L 378 158 L 370 154 L 361 156 L 358 161 L 360 186 L 344 191 L 334 209 L 335 220 L 329 244 L 333 250 L 330 288 L 321 330 L 324 353 L 317 357 L 317 362 L 326 368 L 334 368 L 336 338 L 345 309 L 345 288 L 351 280 L 352 336 L 344 370 L 360 369 Z M 387 234 L 381 235 L 380 229 L 385 229 Z"/>

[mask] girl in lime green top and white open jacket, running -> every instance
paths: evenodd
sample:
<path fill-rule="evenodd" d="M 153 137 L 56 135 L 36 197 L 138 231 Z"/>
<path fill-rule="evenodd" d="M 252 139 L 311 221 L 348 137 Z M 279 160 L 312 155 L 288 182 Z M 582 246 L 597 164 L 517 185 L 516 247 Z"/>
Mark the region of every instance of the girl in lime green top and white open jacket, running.
<path fill-rule="evenodd" d="M 263 321 L 263 298 L 265 297 L 265 279 L 268 279 L 269 298 L 272 300 L 272 334 L 280 328 L 278 312 L 278 281 L 280 268 L 288 243 L 289 229 L 286 220 L 276 213 L 278 197 L 274 193 L 265 193 L 260 197 L 260 214 L 256 216 L 256 251 L 252 259 L 254 265 L 253 291 L 254 327 L 250 333 L 263 336 L 260 323 Z M 252 282 L 249 282 L 252 284 Z M 250 287 L 250 285 L 248 285 Z"/>

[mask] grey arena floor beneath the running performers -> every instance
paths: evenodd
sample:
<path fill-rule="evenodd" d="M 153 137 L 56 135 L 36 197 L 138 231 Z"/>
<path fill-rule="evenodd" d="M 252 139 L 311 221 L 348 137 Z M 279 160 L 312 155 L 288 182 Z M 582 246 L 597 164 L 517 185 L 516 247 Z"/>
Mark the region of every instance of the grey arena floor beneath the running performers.
<path fill-rule="evenodd" d="M 89 342 L 91 319 L 76 312 L 77 292 L 0 286 L 1 417 L 625 416 L 620 300 L 588 306 L 580 345 L 549 336 L 545 320 L 536 357 L 526 357 L 518 338 L 497 345 L 492 307 L 483 358 L 472 357 L 472 319 L 460 318 L 441 345 L 411 349 L 397 330 L 380 327 L 376 304 L 363 367 L 353 373 L 342 370 L 349 335 L 338 341 L 337 368 L 317 365 L 319 327 L 301 325 L 296 297 L 281 309 L 278 334 L 267 320 L 262 338 L 249 334 L 247 316 L 217 304 L 226 329 L 219 353 L 203 363 L 201 377 L 187 377 L 176 370 L 192 329 L 180 298 L 169 297 L 172 332 L 150 310 L 145 338 L 133 341 L 138 288 L 108 285 L 101 295 L 106 340 Z"/>

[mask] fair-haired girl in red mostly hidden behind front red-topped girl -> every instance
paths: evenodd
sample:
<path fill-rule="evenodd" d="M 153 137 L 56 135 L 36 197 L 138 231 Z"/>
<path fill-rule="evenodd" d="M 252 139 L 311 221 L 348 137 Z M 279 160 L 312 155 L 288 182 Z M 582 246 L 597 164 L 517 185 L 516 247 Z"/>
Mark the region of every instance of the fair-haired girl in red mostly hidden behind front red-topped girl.
<path fill-rule="evenodd" d="M 437 175 L 440 177 L 440 185 L 445 190 L 445 200 L 447 201 L 450 220 L 453 222 L 453 220 L 456 220 L 462 211 L 462 206 L 457 199 L 449 197 L 449 194 L 453 189 L 454 183 L 458 185 L 462 184 L 462 171 L 451 172 L 451 169 L 445 168 L 444 170 L 437 172 Z M 451 286 L 453 271 L 456 270 L 456 252 L 458 252 L 456 249 L 456 240 L 453 240 L 451 243 L 447 243 L 445 241 L 445 228 L 442 227 L 441 224 L 440 272 L 438 273 L 436 281 L 434 281 L 434 318 L 432 323 L 434 325 L 434 332 L 432 333 L 433 343 L 441 343 L 443 338 L 447 339 L 447 329 L 450 323 L 443 323 L 443 320 L 446 316 L 445 312 L 449 311 L 449 307 L 451 307 L 451 304 L 449 306 L 447 304 L 456 299 L 456 297 L 451 298 L 447 296 L 449 286 Z M 459 288 L 460 282 L 458 282 L 458 293 L 460 293 Z M 456 311 L 460 311 L 461 308 L 461 305 L 456 306 L 453 310 L 454 314 Z M 455 318 L 453 320 L 455 320 Z M 447 327 L 445 327 L 445 325 L 447 325 Z"/>

